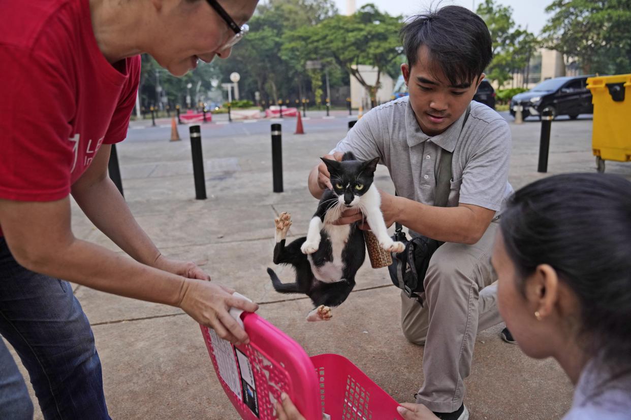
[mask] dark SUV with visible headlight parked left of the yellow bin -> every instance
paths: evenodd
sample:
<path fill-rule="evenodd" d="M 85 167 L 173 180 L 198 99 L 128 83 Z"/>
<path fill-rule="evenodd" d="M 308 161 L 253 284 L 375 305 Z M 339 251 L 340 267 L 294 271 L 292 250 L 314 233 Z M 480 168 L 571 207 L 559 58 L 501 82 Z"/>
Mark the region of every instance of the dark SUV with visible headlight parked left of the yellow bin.
<path fill-rule="evenodd" d="M 587 89 L 587 77 L 555 77 L 548 79 L 528 92 L 516 94 L 510 100 L 510 115 L 515 116 L 516 106 L 522 106 L 522 117 L 534 115 L 541 118 L 541 111 L 548 108 L 553 118 L 569 115 L 575 120 L 579 114 L 593 114 L 591 91 Z"/>

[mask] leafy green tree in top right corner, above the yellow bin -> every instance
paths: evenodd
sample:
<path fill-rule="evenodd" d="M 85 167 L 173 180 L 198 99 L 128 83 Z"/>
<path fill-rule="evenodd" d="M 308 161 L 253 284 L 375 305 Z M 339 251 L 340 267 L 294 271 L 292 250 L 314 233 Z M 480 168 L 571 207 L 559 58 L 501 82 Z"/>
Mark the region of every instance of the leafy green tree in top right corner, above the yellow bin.
<path fill-rule="evenodd" d="M 576 57 L 586 74 L 631 72 L 631 0 L 555 0 L 546 46 Z"/>

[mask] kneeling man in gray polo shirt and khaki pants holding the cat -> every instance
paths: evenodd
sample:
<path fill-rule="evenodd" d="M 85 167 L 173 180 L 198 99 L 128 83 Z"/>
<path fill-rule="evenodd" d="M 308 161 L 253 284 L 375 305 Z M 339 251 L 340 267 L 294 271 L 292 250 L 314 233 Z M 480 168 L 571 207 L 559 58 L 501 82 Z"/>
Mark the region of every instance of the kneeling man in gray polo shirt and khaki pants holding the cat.
<path fill-rule="evenodd" d="M 386 225 L 399 222 L 413 236 L 445 242 L 430 260 L 423 303 L 401 293 L 401 323 L 408 340 L 425 344 L 417 402 L 442 419 L 464 420 L 463 379 L 476 333 L 501 321 L 490 253 L 502 203 L 512 193 L 510 130 L 502 116 L 471 101 L 492 58 L 480 17 L 447 6 L 415 16 L 401 35 L 410 96 L 369 111 L 329 158 L 341 160 L 348 150 L 358 159 L 379 156 L 398 193 L 381 191 Z M 451 192 L 448 207 L 435 207 L 444 150 L 453 152 Z M 309 190 L 320 198 L 325 188 L 331 188 L 329 174 L 320 164 L 310 173 Z M 350 210 L 337 223 L 361 219 Z"/>

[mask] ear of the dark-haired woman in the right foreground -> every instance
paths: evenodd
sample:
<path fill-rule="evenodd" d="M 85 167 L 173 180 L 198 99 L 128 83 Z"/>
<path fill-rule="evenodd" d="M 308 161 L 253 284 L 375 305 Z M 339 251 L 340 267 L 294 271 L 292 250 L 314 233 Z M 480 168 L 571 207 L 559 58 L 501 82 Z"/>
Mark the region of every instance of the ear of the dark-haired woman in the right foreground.
<path fill-rule="evenodd" d="M 526 299 L 533 316 L 539 321 L 549 317 L 558 301 L 557 270 L 549 264 L 540 264 L 526 280 Z"/>

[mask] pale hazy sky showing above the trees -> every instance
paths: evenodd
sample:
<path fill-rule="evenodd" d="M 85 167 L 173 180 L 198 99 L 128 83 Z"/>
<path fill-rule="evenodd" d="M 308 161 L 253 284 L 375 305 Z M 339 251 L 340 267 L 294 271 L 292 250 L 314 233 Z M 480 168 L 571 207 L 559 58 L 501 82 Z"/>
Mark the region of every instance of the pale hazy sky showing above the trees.
<path fill-rule="evenodd" d="M 346 14 L 346 0 L 334 0 L 338 6 L 339 13 Z M 471 9 L 475 2 L 475 7 L 482 3 L 482 0 L 443 0 L 440 4 L 458 4 Z M 430 4 L 436 4 L 435 0 L 355 0 L 357 8 L 366 3 L 374 3 L 382 11 L 389 14 L 403 14 L 409 16 L 423 11 Z M 546 14 L 545 8 L 552 0 L 496 0 L 496 3 L 510 6 L 513 9 L 513 20 L 517 25 L 525 28 L 538 35 L 548 20 L 549 15 Z"/>

